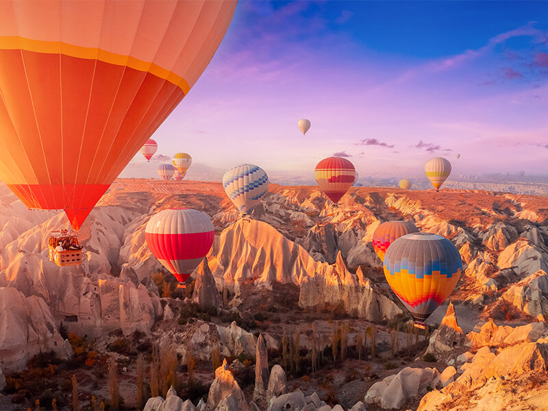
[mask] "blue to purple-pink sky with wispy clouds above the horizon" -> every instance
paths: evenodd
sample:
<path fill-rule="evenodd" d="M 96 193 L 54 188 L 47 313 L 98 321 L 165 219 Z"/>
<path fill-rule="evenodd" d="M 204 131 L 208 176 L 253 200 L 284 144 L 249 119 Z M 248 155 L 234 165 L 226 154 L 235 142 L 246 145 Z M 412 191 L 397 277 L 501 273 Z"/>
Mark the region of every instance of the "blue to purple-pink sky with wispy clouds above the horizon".
<path fill-rule="evenodd" d="M 190 179 L 250 162 L 314 179 L 330 155 L 360 176 L 548 175 L 548 2 L 245 1 L 197 84 L 121 177 L 182 151 Z M 306 136 L 297 128 L 309 119 Z M 456 159 L 460 153 L 460 159 Z"/>

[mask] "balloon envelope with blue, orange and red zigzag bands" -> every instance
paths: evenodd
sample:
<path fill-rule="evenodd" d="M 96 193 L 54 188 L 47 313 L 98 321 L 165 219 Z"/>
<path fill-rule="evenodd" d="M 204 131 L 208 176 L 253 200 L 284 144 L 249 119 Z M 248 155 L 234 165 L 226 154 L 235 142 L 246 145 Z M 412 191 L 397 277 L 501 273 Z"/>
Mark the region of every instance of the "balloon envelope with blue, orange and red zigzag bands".
<path fill-rule="evenodd" d="M 437 234 L 406 234 L 384 255 L 386 281 L 416 321 L 427 319 L 449 297 L 461 271 L 457 247 Z"/>

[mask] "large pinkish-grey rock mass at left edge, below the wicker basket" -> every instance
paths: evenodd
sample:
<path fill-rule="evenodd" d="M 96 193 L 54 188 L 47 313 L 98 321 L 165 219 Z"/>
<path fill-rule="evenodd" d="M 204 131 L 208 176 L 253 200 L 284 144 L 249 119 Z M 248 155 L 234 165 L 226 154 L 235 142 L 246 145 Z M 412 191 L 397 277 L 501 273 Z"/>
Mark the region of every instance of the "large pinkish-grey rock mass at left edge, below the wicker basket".
<path fill-rule="evenodd" d="M 45 301 L 35 295 L 25 297 L 15 288 L 0 288 L 0 329 L 3 371 L 21 371 L 40 352 L 54 351 L 62 359 L 71 354 Z"/>

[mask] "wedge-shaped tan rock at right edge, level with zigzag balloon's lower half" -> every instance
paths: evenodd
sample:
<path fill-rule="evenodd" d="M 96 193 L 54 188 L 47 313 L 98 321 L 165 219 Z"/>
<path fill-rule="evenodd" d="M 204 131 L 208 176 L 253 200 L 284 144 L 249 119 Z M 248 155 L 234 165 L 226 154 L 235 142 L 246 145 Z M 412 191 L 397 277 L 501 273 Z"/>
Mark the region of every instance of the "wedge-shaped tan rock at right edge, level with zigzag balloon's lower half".
<path fill-rule="evenodd" d="M 548 275 L 539 270 L 506 290 L 503 299 L 519 310 L 544 321 L 548 314 Z"/>

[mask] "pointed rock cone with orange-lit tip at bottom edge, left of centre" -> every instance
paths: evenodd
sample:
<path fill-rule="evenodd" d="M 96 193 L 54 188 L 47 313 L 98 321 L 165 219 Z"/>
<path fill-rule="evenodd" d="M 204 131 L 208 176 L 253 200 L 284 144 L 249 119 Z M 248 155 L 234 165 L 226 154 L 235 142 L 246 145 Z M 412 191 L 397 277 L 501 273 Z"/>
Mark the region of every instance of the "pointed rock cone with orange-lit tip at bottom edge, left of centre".
<path fill-rule="evenodd" d="M 227 360 L 223 360 L 223 364 L 215 370 L 215 379 L 210 387 L 208 393 L 208 401 L 206 405 L 206 411 L 216 410 L 217 406 L 221 404 L 221 401 L 232 397 L 229 400 L 230 403 L 235 402 L 239 407 L 239 410 L 249 411 L 249 405 L 245 401 L 245 396 L 238 382 L 234 379 L 234 375 L 229 371 Z M 225 400 L 225 408 L 228 408 Z"/>

